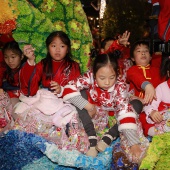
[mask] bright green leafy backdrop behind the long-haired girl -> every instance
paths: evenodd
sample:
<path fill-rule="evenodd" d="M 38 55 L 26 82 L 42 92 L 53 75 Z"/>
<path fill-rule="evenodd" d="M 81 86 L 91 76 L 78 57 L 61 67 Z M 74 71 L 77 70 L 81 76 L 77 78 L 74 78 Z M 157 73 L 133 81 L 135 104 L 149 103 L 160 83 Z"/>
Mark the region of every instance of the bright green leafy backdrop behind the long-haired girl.
<path fill-rule="evenodd" d="M 21 48 L 32 44 L 36 62 L 46 56 L 45 40 L 54 30 L 66 32 L 71 39 L 74 60 L 81 72 L 87 70 L 92 35 L 80 0 L 18 0 L 19 15 L 13 37 Z"/>

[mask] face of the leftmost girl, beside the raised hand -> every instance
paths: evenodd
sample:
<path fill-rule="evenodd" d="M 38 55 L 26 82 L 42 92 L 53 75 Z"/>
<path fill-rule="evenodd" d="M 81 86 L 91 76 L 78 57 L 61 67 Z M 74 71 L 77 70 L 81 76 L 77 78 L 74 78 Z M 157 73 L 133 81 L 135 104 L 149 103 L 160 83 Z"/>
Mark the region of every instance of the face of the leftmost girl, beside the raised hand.
<path fill-rule="evenodd" d="M 4 60 L 5 63 L 9 66 L 11 69 L 16 69 L 21 65 L 21 60 L 23 56 L 20 57 L 18 54 L 14 53 L 11 50 L 6 50 L 4 52 Z"/>

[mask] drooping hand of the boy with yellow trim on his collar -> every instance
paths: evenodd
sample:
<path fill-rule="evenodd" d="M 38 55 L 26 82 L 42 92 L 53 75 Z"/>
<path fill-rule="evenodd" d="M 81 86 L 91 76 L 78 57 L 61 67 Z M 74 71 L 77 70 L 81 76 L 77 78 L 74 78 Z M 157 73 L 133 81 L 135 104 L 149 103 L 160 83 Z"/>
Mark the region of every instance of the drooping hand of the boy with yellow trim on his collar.
<path fill-rule="evenodd" d="M 151 103 L 153 99 L 157 99 L 155 88 L 152 84 L 147 84 L 145 87 L 145 97 L 143 99 L 143 104 Z"/>

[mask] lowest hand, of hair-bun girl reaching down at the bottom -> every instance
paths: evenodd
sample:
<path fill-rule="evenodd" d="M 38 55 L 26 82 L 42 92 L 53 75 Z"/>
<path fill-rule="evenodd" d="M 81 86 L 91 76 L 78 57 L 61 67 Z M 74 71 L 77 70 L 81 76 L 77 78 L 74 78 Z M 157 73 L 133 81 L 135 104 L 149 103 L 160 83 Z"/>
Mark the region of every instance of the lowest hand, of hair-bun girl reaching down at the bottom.
<path fill-rule="evenodd" d="M 141 158 L 142 150 L 140 148 L 140 145 L 136 144 L 131 146 L 130 153 L 132 154 L 132 162 L 139 163 L 141 161 L 140 158 Z"/>

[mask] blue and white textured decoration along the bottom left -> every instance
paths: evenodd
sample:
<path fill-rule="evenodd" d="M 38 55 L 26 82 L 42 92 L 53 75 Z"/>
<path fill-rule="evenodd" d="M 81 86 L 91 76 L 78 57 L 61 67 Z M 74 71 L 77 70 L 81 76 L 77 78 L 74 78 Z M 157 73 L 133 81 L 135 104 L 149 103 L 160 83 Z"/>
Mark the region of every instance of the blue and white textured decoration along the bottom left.
<path fill-rule="evenodd" d="M 76 150 L 59 150 L 55 144 L 35 134 L 11 130 L 0 137 L 0 169 L 109 170 L 113 146 L 118 141 L 119 139 L 96 158 L 92 158 Z"/>

